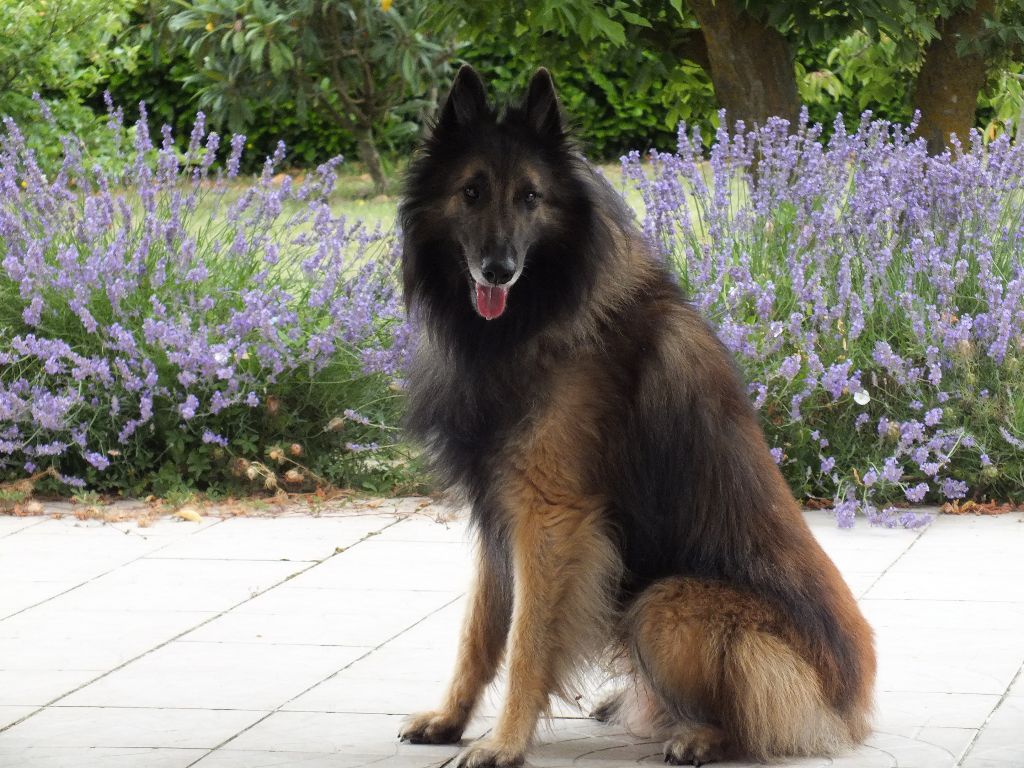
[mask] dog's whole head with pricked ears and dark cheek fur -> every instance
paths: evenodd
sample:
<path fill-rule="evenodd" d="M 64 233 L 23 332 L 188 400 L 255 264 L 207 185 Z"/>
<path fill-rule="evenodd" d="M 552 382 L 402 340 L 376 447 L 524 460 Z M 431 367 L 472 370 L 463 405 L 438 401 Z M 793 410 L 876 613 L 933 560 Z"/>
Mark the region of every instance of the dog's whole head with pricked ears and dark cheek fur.
<path fill-rule="evenodd" d="M 567 242 L 570 222 L 580 225 L 579 163 L 547 70 L 499 114 L 479 75 L 463 67 L 407 180 L 400 220 L 424 250 L 411 264 L 407 242 L 407 296 L 423 272 L 456 270 L 467 306 L 484 319 L 504 315 L 551 250 L 544 244 Z"/>

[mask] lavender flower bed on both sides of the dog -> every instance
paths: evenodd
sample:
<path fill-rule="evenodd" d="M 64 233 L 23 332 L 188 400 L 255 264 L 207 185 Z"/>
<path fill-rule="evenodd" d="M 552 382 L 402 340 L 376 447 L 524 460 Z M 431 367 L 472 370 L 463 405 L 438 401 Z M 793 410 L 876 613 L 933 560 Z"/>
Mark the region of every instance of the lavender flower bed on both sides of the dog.
<path fill-rule="evenodd" d="M 723 119 L 724 120 L 724 119 Z M 117 113 L 112 130 L 124 131 Z M 0 150 L 0 482 L 217 499 L 423 488 L 400 440 L 412 331 L 389 228 L 339 212 L 337 164 L 202 119 L 187 151 L 144 122 L 116 162 L 73 137 L 45 174 Z M 913 525 L 911 504 L 1024 501 L 1024 150 L 929 157 L 865 117 L 680 131 L 624 159 L 658 257 L 736 354 L 798 497 Z M 332 203 L 334 200 L 334 203 Z"/>

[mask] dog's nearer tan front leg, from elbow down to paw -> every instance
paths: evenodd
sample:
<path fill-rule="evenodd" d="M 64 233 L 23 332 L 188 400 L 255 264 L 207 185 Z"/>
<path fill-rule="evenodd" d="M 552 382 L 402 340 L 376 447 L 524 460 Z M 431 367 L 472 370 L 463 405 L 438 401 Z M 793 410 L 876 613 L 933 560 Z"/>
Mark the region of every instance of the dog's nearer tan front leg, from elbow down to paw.
<path fill-rule="evenodd" d="M 513 528 L 508 691 L 494 731 L 467 748 L 460 768 L 520 765 L 551 693 L 565 693 L 573 667 L 607 640 L 620 560 L 600 517 L 534 507 Z"/>

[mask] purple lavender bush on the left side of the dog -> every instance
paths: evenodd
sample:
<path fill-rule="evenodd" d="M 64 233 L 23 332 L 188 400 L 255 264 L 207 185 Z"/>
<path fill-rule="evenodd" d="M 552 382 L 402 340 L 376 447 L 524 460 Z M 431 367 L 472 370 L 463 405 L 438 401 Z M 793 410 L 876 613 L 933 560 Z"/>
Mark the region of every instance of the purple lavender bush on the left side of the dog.
<path fill-rule="evenodd" d="M 184 154 L 169 129 L 154 145 L 144 110 L 129 133 L 108 170 L 66 138 L 52 178 L 16 125 L 0 133 L 0 479 L 386 485 L 393 238 L 332 215 L 337 163 L 293 184 L 282 145 L 241 187 L 245 137 L 220 147 L 202 115 Z"/>

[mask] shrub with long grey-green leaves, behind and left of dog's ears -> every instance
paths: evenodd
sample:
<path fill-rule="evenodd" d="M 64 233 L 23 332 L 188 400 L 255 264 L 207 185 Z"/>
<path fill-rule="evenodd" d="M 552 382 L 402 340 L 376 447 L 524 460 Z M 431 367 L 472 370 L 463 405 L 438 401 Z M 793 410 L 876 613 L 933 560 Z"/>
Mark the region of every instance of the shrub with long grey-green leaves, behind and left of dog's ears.
<path fill-rule="evenodd" d="M 375 134 L 412 140 L 450 74 L 451 45 L 421 32 L 428 5 L 181 0 L 166 18 L 196 65 L 183 82 L 215 118 L 244 130 L 258 104 L 294 104 L 301 120 L 316 109 L 350 132 L 373 166 Z"/>

